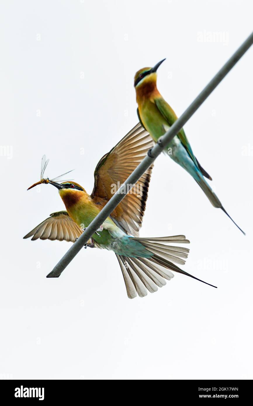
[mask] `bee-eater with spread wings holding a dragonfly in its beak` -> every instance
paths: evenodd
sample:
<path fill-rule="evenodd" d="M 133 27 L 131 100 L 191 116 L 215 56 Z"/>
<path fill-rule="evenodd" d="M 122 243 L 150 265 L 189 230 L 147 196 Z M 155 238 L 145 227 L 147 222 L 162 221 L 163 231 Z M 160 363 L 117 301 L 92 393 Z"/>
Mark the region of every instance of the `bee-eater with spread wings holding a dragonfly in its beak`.
<path fill-rule="evenodd" d="M 51 214 L 24 238 L 33 236 L 32 240 L 40 238 L 41 240 L 75 242 L 83 229 L 88 227 L 115 193 L 115 185 L 118 182 L 122 184 L 127 179 L 151 146 L 152 140 L 149 134 L 138 124 L 98 162 L 91 195 L 76 182 L 59 183 L 55 179 L 44 179 L 43 175 L 48 161 L 45 162 L 45 158 L 43 158 L 41 181 L 38 183 L 55 186 L 67 211 Z M 164 279 L 173 278 L 174 275 L 171 271 L 198 279 L 175 265 L 175 263 L 180 265 L 185 263 L 184 258 L 188 256 L 188 248 L 167 245 L 189 243 L 184 235 L 160 238 L 138 237 L 146 206 L 151 171 L 152 166 L 128 192 L 110 217 L 106 218 L 88 244 L 91 248 L 105 248 L 115 252 L 129 298 L 134 298 L 137 294 L 140 297 L 146 296 L 147 290 L 155 292 L 158 287 L 166 284 Z M 200 281 L 200 279 L 198 280 Z"/>

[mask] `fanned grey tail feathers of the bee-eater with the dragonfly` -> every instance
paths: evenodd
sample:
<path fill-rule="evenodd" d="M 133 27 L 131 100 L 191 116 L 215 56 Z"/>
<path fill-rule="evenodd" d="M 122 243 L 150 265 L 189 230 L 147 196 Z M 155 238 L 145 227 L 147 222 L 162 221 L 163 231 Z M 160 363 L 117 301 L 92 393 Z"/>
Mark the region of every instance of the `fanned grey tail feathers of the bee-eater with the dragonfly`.
<path fill-rule="evenodd" d="M 171 271 L 179 272 L 201 281 L 201 279 L 184 272 L 174 263 L 184 264 L 184 258 L 187 258 L 189 249 L 166 245 L 171 242 L 180 244 L 189 243 L 184 235 L 160 238 L 134 238 L 134 240 L 141 242 L 154 255 L 151 258 L 133 258 L 116 254 L 130 299 L 135 298 L 137 294 L 140 297 L 144 297 L 147 295 L 147 291 L 151 293 L 156 292 L 158 287 L 166 285 L 165 279 L 169 281 L 173 278 L 174 274 Z M 201 282 L 210 285 L 210 283 Z"/>

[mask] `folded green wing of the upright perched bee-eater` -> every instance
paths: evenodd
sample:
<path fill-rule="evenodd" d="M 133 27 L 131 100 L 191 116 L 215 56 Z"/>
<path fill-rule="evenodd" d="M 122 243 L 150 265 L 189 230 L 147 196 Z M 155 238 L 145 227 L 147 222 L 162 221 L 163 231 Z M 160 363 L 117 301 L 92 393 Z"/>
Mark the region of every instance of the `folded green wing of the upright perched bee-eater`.
<path fill-rule="evenodd" d="M 155 99 L 155 103 L 156 103 L 156 107 L 158 108 L 160 113 L 163 115 L 164 119 L 166 121 L 168 121 L 168 124 L 171 126 L 177 120 L 177 116 L 176 116 L 175 112 L 172 110 L 171 106 L 169 106 L 169 104 L 167 102 L 165 102 L 165 100 L 162 97 Z M 177 136 L 178 136 L 179 140 L 181 141 L 181 143 L 184 145 L 188 154 L 190 155 L 190 158 L 192 158 L 193 162 L 198 167 L 199 165 L 197 163 L 195 156 L 193 155 L 190 143 L 185 135 L 183 128 L 181 128 L 181 130 L 179 131 Z"/>

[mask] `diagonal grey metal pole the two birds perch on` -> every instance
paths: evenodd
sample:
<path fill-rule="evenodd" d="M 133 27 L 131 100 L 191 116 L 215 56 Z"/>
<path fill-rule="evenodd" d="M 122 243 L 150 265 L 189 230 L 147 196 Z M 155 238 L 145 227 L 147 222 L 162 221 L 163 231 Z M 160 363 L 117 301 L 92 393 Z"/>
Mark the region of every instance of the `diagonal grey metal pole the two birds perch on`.
<path fill-rule="evenodd" d="M 175 121 L 175 123 L 170 127 L 164 136 L 159 138 L 158 143 L 151 149 L 149 154 L 145 156 L 142 162 L 134 169 L 128 179 L 125 180 L 124 184 L 121 185 L 117 193 L 106 203 L 101 212 L 94 218 L 89 227 L 80 235 L 78 240 L 69 248 L 62 259 L 57 263 L 52 272 L 47 275 L 47 278 L 58 278 L 63 270 L 69 265 L 76 254 L 82 249 L 84 244 L 91 238 L 95 231 L 102 225 L 104 220 L 110 215 L 110 213 L 115 209 L 115 207 L 121 202 L 125 197 L 124 190 L 127 190 L 125 185 L 133 185 L 138 179 L 143 175 L 143 173 L 149 168 L 149 166 L 154 162 L 154 160 L 160 155 L 162 150 L 166 145 L 170 143 L 172 138 L 181 130 L 184 124 L 192 117 L 195 111 L 201 106 L 205 99 L 212 93 L 212 91 L 218 86 L 218 84 L 225 78 L 227 73 L 236 65 L 238 60 L 245 54 L 245 52 L 253 44 L 253 32 L 246 39 L 246 41 L 238 48 L 238 50 L 231 56 L 231 58 L 225 63 L 225 65 L 216 73 L 214 78 L 208 83 L 207 86 L 202 90 L 201 93 L 196 97 L 196 99 L 190 104 L 190 106 L 185 110 L 182 116 Z"/>

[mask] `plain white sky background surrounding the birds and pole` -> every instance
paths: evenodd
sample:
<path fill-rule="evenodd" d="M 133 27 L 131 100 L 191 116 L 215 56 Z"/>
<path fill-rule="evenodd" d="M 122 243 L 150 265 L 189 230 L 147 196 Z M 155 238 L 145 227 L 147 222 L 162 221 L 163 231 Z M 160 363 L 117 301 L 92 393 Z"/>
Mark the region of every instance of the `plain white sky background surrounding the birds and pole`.
<path fill-rule="evenodd" d="M 158 89 L 180 115 L 250 34 L 252 13 L 239 0 L 1 2 L 0 144 L 13 148 L 0 157 L 2 376 L 253 378 L 253 48 L 184 127 L 246 237 L 165 156 L 141 229 L 185 234 L 184 269 L 218 289 L 175 274 L 129 300 L 112 252 L 82 250 L 60 278 L 46 279 L 70 243 L 22 240 L 64 209 L 51 186 L 26 191 L 44 153 L 45 175 L 75 168 L 91 192 L 98 160 L 138 121 L 134 73 L 166 57 Z M 223 41 L 206 42 L 208 31 Z"/>

